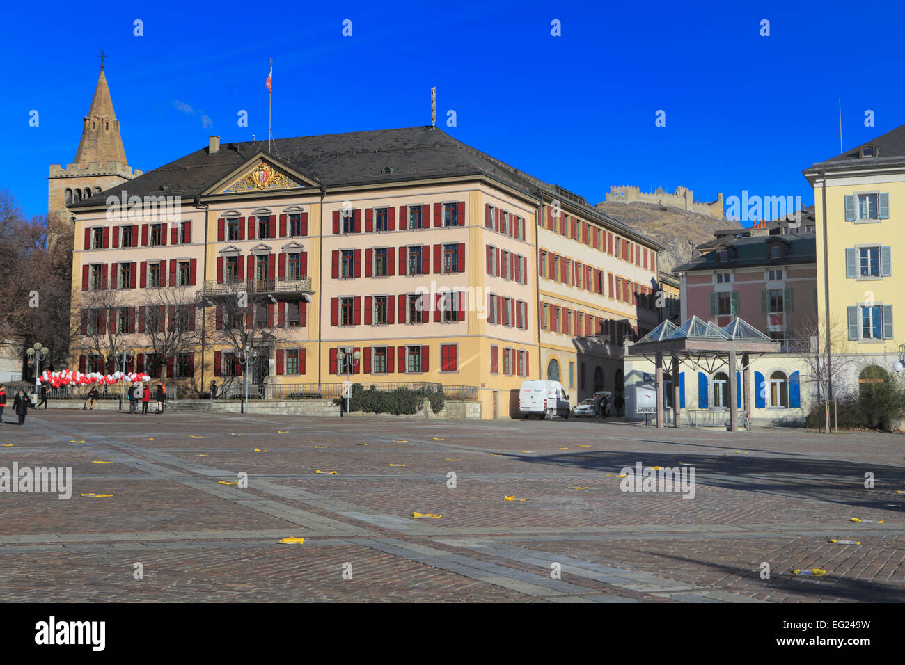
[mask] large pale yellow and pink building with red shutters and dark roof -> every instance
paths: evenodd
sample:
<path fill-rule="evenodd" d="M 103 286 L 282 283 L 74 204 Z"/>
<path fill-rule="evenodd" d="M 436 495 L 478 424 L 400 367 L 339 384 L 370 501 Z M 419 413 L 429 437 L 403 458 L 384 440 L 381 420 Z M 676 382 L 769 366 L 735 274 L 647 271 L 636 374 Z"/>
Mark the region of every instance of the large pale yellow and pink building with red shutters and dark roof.
<path fill-rule="evenodd" d="M 439 129 L 212 137 L 69 206 L 73 366 L 110 372 L 133 350 L 127 369 L 187 394 L 247 373 L 268 394 L 326 395 L 351 348 L 353 382 L 463 386 L 491 418 L 556 359 L 584 364 L 572 385 L 589 395 L 598 366 L 617 378 L 621 348 L 600 336 L 657 321 L 660 247 L 565 194 Z M 538 278 L 538 250 L 555 276 Z"/>

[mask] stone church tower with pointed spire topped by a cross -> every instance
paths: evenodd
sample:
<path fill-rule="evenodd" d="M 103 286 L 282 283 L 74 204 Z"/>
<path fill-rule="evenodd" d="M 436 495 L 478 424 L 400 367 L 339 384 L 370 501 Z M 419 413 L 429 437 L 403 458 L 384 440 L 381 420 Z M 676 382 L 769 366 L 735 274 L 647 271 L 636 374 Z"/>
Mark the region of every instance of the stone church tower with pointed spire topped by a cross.
<path fill-rule="evenodd" d="M 100 194 L 141 175 L 141 171 L 133 170 L 126 163 L 126 151 L 119 136 L 119 120 L 113 112 L 113 100 L 110 99 L 103 64 L 100 65 L 98 85 L 83 123 L 75 162 L 65 168 L 52 164 L 48 177 L 48 217 L 56 215 L 56 223 L 62 223 L 62 228 L 70 230 L 70 215 L 66 210 L 68 204 Z"/>

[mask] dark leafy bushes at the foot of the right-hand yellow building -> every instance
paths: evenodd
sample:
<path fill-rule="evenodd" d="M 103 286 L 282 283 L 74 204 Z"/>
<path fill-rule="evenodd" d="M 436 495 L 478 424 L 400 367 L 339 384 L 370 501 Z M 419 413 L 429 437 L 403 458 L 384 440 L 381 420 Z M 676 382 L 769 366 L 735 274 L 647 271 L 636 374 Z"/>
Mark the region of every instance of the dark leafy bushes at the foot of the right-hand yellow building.
<path fill-rule="evenodd" d="M 905 385 L 896 375 L 887 375 L 882 383 L 865 383 L 856 397 L 837 400 L 837 426 L 843 430 L 889 430 L 891 420 L 900 418 L 905 407 Z M 807 414 L 805 425 L 814 429 L 824 427 L 823 404 L 817 404 Z M 833 425 L 833 404 L 830 404 L 830 425 Z"/>

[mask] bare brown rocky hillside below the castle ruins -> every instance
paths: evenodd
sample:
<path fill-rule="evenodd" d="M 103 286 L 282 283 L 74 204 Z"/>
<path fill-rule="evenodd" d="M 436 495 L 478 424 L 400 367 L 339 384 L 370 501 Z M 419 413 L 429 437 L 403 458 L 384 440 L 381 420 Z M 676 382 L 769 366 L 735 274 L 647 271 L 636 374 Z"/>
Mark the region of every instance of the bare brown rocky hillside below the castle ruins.
<path fill-rule="evenodd" d="M 603 202 L 596 207 L 662 244 L 660 269 L 663 271 L 672 271 L 675 266 L 691 258 L 689 242 L 697 245 L 713 240 L 713 232 L 719 229 L 742 228 L 738 222 L 702 214 L 686 214 L 681 208 L 666 205 Z"/>

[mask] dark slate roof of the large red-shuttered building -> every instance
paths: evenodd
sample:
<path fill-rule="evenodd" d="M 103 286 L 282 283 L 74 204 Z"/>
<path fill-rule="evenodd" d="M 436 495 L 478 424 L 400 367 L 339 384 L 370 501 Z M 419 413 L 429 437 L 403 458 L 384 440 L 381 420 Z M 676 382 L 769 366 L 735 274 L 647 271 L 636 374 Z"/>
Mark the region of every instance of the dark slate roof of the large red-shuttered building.
<path fill-rule="evenodd" d="M 109 195 L 182 196 L 194 198 L 245 164 L 259 152 L 267 152 L 267 141 L 223 143 L 209 155 L 207 147 L 129 180 L 122 185 L 83 199 L 69 207 L 78 209 L 103 204 Z M 609 223 L 627 235 L 662 249 L 643 233 L 610 214 L 597 210 L 581 196 L 519 171 L 499 159 L 452 138 L 441 129 L 410 127 L 377 129 L 346 134 L 277 138 L 269 154 L 277 163 L 290 166 L 327 188 L 347 185 L 391 184 L 397 181 L 447 176 L 488 176 L 519 192 L 573 205 L 588 219 Z"/>

